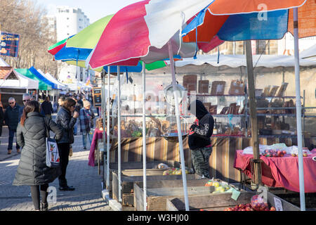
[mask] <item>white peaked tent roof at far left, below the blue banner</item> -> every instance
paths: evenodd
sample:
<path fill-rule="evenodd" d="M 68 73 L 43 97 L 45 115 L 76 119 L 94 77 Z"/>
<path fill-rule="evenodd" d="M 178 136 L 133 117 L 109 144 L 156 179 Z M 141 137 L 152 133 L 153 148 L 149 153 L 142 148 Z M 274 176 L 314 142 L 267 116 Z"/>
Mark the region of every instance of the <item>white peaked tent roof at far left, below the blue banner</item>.
<path fill-rule="evenodd" d="M 9 89 L 39 89 L 39 82 L 13 70 L 18 79 L 1 80 L 1 87 Z"/>

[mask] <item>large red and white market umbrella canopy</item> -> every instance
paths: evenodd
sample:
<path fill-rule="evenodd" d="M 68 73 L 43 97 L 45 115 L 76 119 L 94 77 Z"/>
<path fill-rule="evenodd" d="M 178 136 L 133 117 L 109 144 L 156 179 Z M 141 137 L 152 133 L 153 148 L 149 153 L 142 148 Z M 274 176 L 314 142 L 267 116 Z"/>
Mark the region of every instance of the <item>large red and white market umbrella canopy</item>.
<path fill-rule="evenodd" d="M 210 3 L 210 0 L 185 1 L 185 4 L 182 0 L 146 0 L 122 8 L 105 27 L 89 62 L 91 68 L 169 58 L 167 42 L 171 37 L 173 55 L 194 56 L 196 45 L 182 43 L 176 33 Z M 181 51 L 185 48 L 190 50 Z"/>

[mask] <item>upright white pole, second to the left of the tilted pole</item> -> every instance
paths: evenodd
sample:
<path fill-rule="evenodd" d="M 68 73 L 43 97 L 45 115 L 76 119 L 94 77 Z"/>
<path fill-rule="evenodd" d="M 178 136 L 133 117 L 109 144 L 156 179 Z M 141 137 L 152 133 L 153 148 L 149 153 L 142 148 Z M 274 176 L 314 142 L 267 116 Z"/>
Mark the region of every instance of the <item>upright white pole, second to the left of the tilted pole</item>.
<path fill-rule="evenodd" d="M 117 155 L 119 169 L 119 202 L 121 202 L 121 76 L 117 66 L 117 79 L 119 80 L 119 91 L 117 94 Z"/>

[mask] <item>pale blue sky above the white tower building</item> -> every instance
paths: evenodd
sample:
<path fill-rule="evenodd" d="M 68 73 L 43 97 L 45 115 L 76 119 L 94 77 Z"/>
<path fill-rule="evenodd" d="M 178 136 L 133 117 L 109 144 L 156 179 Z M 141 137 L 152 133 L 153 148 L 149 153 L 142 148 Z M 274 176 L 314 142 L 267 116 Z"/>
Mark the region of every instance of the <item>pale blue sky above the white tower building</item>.
<path fill-rule="evenodd" d="M 55 6 L 70 6 L 81 8 L 90 19 L 90 23 L 103 18 L 105 15 L 114 14 L 119 9 L 140 0 L 34 0 L 37 4 L 45 6 L 49 14 L 54 14 Z"/>

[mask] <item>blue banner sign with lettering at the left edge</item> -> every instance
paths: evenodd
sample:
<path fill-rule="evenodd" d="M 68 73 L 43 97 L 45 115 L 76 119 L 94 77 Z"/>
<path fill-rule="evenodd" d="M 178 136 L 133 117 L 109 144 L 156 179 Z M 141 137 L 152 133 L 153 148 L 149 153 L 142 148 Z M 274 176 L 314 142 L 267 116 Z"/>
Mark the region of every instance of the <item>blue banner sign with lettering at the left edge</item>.
<path fill-rule="evenodd" d="M 20 35 L 6 32 L 0 34 L 0 56 L 18 57 Z"/>

